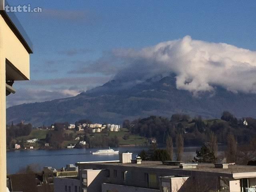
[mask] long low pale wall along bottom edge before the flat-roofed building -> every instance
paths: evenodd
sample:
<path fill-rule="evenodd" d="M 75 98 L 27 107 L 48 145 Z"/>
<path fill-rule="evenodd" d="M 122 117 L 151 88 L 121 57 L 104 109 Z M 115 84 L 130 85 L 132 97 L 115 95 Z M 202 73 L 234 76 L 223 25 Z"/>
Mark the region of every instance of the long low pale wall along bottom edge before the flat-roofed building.
<path fill-rule="evenodd" d="M 102 183 L 102 192 L 160 192 L 160 190 Z"/>

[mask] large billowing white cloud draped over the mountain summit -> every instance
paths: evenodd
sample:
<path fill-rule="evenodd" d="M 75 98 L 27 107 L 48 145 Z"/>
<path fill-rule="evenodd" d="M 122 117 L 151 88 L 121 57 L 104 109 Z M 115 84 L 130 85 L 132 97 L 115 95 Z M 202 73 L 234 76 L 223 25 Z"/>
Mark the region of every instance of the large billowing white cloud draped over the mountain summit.
<path fill-rule="evenodd" d="M 256 93 L 256 52 L 229 44 L 185 36 L 141 50 L 114 50 L 113 54 L 130 62 L 115 79 L 145 80 L 175 73 L 177 88 L 193 94 L 213 91 L 214 86 Z"/>

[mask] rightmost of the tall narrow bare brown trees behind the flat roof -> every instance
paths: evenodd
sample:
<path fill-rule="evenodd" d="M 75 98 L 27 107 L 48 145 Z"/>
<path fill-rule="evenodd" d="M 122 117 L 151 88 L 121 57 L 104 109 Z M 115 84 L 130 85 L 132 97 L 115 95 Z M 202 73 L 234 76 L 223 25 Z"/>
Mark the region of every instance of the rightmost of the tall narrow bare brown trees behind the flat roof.
<path fill-rule="evenodd" d="M 226 158 L 227 163 L 236 162 L 237 144 L 233 134 L 228 134 Z"/>

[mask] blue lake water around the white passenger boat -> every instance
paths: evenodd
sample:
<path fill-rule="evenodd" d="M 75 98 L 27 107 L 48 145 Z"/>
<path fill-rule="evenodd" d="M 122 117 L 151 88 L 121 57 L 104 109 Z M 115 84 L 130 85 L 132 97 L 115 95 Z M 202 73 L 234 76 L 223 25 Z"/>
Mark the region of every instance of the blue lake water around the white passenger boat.
<path fill-rule="evenodd" d="M 200 147 L 185 147 L 184 160 L 192 160 L 196 150 Z M 66 167 L 66 164 L 76 162 L 118 160 L 118 154 L 92 155 L 90 152 L 104 148 L 93 149 L 63 149 L 63 150 L 16 150 L 7 152 L 7 173 L 14 174 L 29 164 L 37 164 L 40 168 L 52 166 L 54 168 Z M 132 152 L 133 158 L 141 150 L 148 150 L 147 147 L 119 147 L 113 148 L 120 152 Z"/>

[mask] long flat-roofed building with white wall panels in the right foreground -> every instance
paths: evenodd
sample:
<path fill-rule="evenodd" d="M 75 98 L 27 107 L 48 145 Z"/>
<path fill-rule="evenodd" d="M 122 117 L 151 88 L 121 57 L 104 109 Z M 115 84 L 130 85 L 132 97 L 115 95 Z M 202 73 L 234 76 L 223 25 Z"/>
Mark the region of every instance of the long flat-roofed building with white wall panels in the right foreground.
<path fill-rule="evenodd" d="M 256 166 L 130 159 L 131 154 L 125 153 L 120 154 L 120 161 L 78 162 L 76 165 L 79 171 L 76 180 L 80 180 L 80 192 L 247 192 L 256 190 Z M 68 183 L 67 180 L 66 183 Z M 55 190 L 55 192 L 62 191 L 65 191 L 64 184 Z"/>

